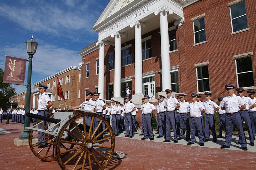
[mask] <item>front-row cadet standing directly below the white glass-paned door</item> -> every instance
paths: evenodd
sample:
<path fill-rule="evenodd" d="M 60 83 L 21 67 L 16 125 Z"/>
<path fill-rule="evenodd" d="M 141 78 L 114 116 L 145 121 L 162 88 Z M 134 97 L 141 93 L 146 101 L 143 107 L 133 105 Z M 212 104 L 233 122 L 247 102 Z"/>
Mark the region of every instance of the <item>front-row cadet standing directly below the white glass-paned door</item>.
<path fill-rule="evenodd" d="M 149 103 L 149 96 L 144 95 L 145 98 L 145 104 L 143 104 L 141 111 L 143 111 L 143 115 L 144 115 L 144 137 L 141 138 L 141 140 L 145 140 L 148 139 L 147 134 L 149 133 L 150 135 L 150 141 L 154 140 L 154 134 L 153 134 L 153 129 L 152 129 L 152 116 L 151 116 L 151 112 L 155 111 L 156 108 L 152 103 Z"/>

